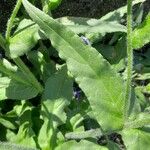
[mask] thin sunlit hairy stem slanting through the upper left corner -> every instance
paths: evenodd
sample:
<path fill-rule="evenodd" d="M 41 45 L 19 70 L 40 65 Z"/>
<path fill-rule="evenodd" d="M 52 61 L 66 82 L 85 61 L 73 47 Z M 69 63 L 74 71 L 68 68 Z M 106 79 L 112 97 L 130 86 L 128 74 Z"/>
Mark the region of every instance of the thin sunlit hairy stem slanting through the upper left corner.
<path fill-rule="evenodd" d="M 20 9 L 21 3 L 22 3 L 22 0 L 17 0 L 16 6 L 15 6 L 15 8 L 14 8 L 14 10 L 10 16 L 10 19 L 7 22 L 7 29 L 6 29 L 6 34 L 5 34 L 6 40 L 8 40 L 10 37 L 11 29 L 12 29 L 13 23 L 14 23 L 14 19 L 15 19 L 16 15 Z"/>

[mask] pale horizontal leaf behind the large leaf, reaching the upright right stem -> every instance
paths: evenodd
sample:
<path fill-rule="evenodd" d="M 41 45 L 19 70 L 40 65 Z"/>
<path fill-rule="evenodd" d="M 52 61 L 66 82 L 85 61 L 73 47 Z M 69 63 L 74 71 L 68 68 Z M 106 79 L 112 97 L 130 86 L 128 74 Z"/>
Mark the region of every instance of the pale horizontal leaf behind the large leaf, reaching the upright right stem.
<path fill-rule="evenodd" d="M 63 17 L 57 19 L 59 22 L 67 26 L 70 30 L 79 33 L 99 33 L 105 35 L 112 32 L 126 32 L 126 27 L 113 21 L 99 21 L 97 19 L 79 18 L 80 22 L 77 22 L 77 18 Z M 63 22 L 64 21 L 64 22 Z"/>

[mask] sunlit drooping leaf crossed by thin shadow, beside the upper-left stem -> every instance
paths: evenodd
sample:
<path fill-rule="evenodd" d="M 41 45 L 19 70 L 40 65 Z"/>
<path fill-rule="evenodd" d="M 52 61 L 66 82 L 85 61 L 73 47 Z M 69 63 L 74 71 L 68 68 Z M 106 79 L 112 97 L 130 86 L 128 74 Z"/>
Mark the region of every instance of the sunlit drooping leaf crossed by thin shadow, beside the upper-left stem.
<path fill-rule="evenodd" d="M 17 31 L 9 39 L 9 56 L 17 58 L 31 50 L 38 39 L 39 27 L 29 19 L 24 19 L 20 22 Z"/>

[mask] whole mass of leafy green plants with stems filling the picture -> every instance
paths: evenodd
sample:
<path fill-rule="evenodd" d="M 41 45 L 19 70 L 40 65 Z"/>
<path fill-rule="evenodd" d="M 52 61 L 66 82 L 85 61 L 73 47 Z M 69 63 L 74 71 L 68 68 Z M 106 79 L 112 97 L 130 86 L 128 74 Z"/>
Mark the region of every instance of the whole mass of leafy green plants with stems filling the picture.
<path fill-rule="evenodd" d="M 23 16 L 11 35 L 21 3 L 32 20 Z M 132 19 L 132 0 L 100 19 L 53 19 L 44 7 L 18 0 L 0 35 L 1 149 L 148 150 L 149 80 L 139 78 L 148 79 L 150 55 L 141 61 L 137 48 L 150 41 L 149 14 Z"/>

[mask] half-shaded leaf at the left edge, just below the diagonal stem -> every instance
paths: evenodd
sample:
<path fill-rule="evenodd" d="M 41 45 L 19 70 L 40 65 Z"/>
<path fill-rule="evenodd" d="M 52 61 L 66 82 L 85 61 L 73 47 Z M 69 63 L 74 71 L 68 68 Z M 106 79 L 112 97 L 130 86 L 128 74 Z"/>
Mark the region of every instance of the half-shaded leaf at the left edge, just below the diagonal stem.
<path fill-rule="evenodd" d="M 3 99 L 30 99 L 38 94 L 38 90 L 34 88 L 28 79 L 17 70 L 16 67 L 11 66 L 8 61 L 0 61 L 0 72 L 8 77 L 0 78 L 0 100 Z"/>

